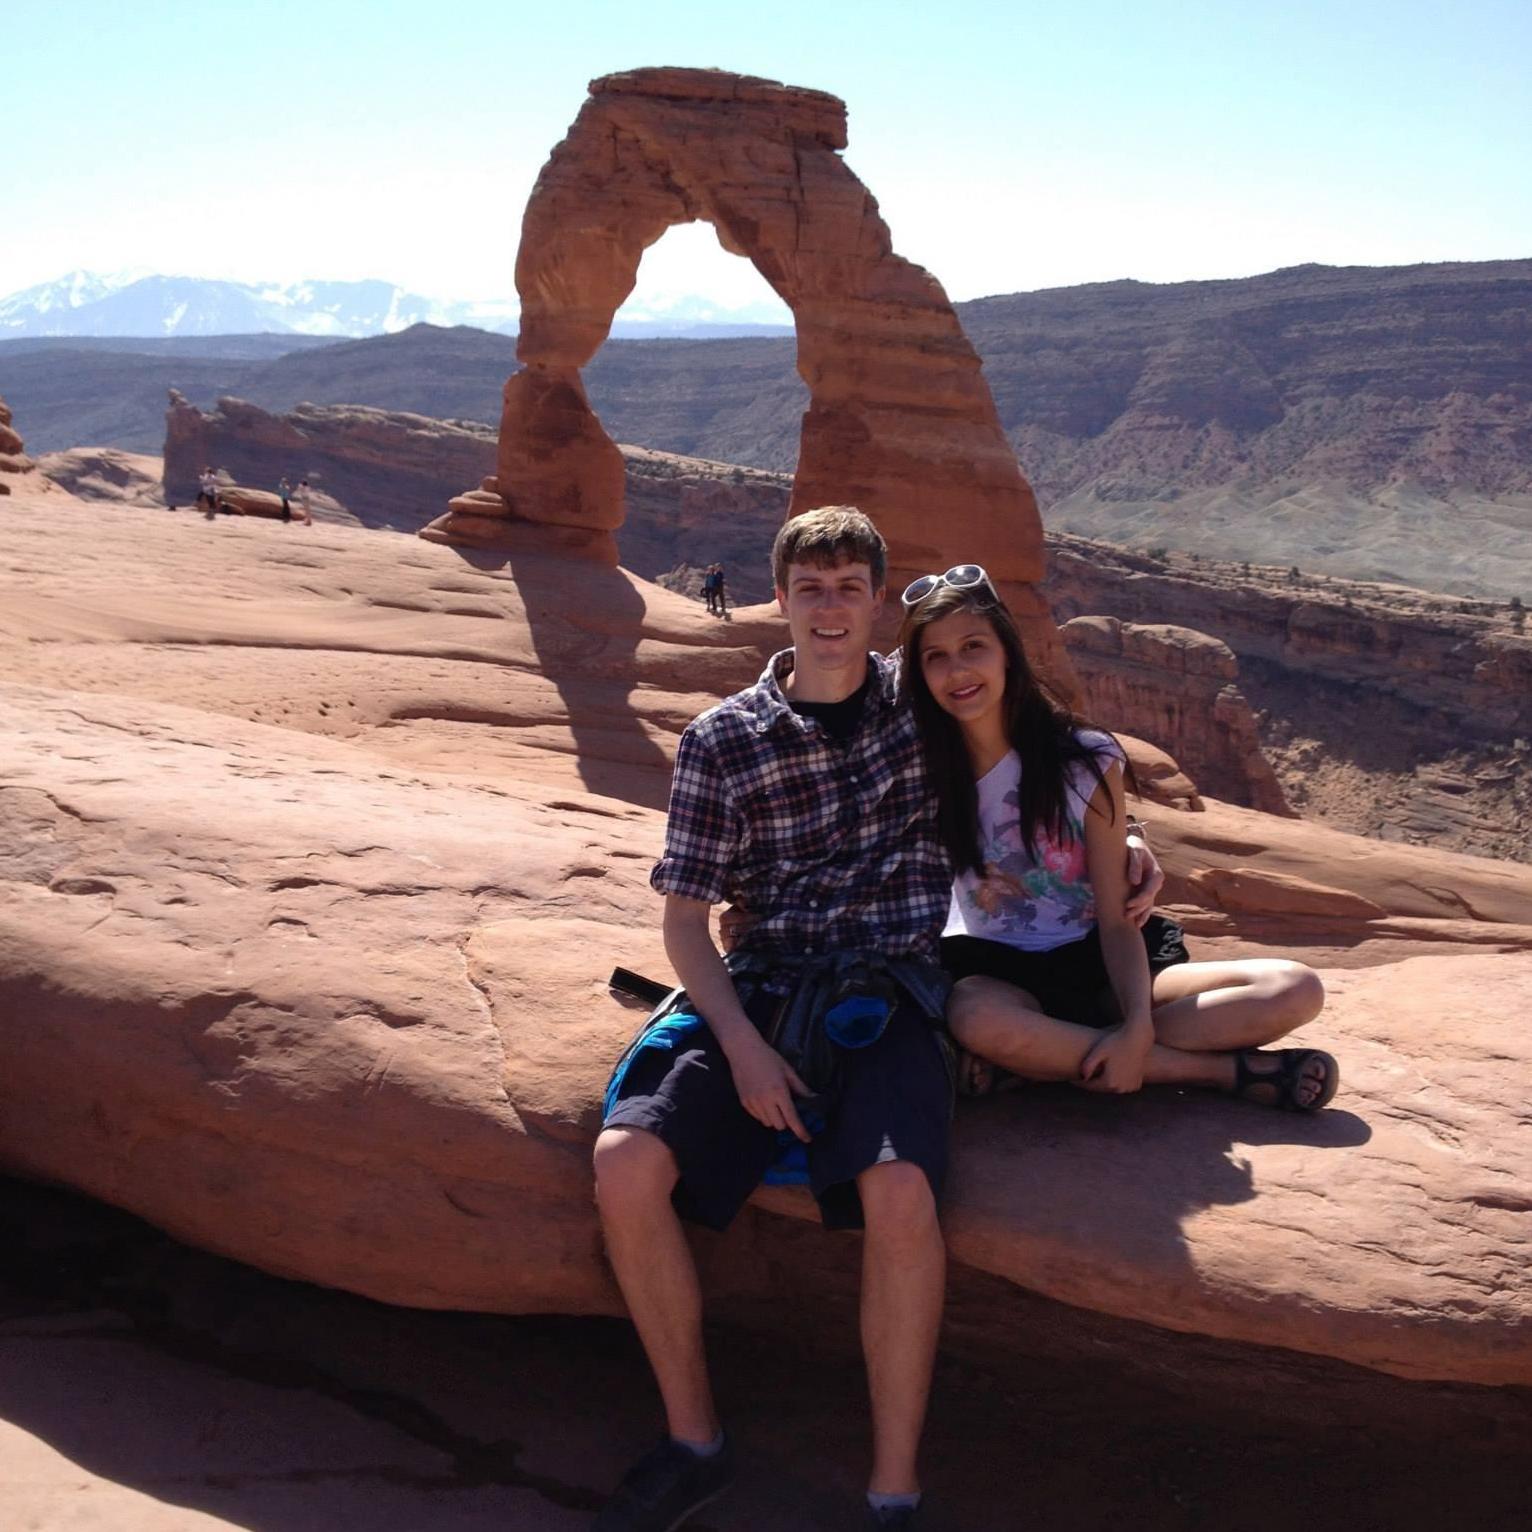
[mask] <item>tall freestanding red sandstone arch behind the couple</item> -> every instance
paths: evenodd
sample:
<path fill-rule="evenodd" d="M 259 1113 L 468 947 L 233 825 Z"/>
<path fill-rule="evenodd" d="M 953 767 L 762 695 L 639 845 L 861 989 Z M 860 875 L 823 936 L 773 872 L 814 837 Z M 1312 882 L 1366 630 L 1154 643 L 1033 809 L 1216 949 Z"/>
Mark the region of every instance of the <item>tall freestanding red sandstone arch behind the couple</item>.
<path fill-rule="evenodd" d="M 498 472 L 424 536 L 616 562 L 622 460 L 581 383 L 639 260 L 666 228 L 714 225 L 792 309 L 809 386 L 792 507 L 852 502 L 895 574 L 980 559 L 1057 654 L 1037 502 L 941 283 L 893 253 L 841 159 L 846 107 L 821 90 L 708 69 L 594 80 L 538 178 L 516 257 L 518 355 Z M 954 538 L 958 529 L 958 538 Z M 961 548 L 958 542 L 961 539 Z"/>

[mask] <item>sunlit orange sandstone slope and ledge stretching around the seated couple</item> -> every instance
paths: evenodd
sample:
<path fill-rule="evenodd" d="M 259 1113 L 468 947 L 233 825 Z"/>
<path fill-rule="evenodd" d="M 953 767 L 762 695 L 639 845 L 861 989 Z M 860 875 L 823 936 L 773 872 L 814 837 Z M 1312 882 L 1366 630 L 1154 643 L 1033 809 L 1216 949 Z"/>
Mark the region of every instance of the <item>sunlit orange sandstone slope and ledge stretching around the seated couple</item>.
<path fill-rule="evenodd" d="M 8 521 L 0 1163 L 388 1301 L 614 1311 L 588 1147 L 639 1010 L 604 980 L 666 971 L 674 741 L 780 624 L 588 562 L 332 527 L 297 571 L 268 527 L 219 533 L 60 492 Z M 1302 1036 L 1342 1095 L 965 1105 L 954 1287 L 1253 1342 L 1261 1388 L 1313 1385 L 1279 1348 L 1532 1383 L 1532 870 L 1146 815 L 1200 956 L 1322 970 Z M 781 1322 L 792 1262 L 751 1227 L 717 1242 L 725 1288 Z"/>

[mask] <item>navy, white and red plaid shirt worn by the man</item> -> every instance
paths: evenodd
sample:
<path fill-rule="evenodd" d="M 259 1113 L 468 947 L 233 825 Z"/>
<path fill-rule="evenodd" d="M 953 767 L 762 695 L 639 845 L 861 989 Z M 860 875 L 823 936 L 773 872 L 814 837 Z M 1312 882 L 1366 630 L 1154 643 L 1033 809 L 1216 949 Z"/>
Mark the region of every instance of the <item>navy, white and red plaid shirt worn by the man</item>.
<path fill-rule="evenodd" d="M 787 705 L 791 650 L 680 738 L 650 882 L 760 916 L 746 951 L 936 959 L 951 898 L 936 798 L 896 666 L 879 654 L 867 663 L 872 685 L 844 746 Z"/>

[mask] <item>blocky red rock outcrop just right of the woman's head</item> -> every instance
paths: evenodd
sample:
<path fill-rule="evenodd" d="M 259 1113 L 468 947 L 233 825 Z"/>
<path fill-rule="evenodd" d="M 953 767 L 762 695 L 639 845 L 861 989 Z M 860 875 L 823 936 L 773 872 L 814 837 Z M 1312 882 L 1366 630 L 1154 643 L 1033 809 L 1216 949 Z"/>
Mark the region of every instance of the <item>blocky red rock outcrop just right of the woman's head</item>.
<path fill-rule="evenodd" d="M 1075 617 L 1059 631 L 1089 717 L 1170 751 L 1203 792 L 1247 809 L 1293 813 L 1261 754 L 1227 643 L 1190 628 L 1117 617 Z"/>

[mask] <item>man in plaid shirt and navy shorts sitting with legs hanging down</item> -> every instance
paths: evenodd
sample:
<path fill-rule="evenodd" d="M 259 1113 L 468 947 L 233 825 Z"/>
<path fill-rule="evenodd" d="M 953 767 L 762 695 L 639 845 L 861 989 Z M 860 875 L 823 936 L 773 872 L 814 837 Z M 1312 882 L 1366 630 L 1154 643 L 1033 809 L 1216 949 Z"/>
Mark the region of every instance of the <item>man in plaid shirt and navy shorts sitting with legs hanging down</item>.
<path fill-rule="evenodd" d="M 807 1144 L 826 1226 L 866 1227 L 869 1524 L 908 1524 L 919 1498 L 945 1273 L 936 1198 L 951 1085 L 936 944 L 951 873 L 895 669 L 869 653 L 884 567 L 858 510 L 787 521 L 772 573 L 794 647 L 696 719 L 676 755 L 651 881 L 700 1020 L 630 1049 L 596 1140 L 607 1250 L 669 1434 L 597 1515 L 601 1532 L 680 1526 L 732 1478 L 680 1216 L 723 1229 L 789 1134 Z M 708 927 L 720 899 L 757 918 L 728 965 Z M 795 1097 L 810 1095 L 800 1112 Z"/>

